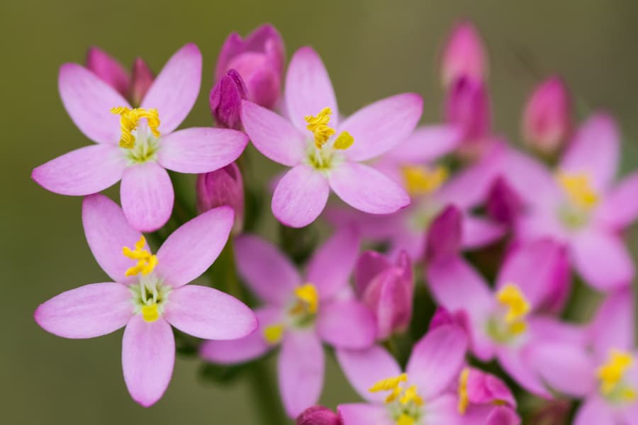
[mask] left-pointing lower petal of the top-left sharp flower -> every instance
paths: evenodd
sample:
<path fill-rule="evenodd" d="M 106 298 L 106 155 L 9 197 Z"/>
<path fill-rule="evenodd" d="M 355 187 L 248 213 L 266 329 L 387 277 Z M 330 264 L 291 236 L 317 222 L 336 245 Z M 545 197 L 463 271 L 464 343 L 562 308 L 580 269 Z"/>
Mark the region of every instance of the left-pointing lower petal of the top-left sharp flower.
<path fill-rule="evenodd" d="M 47 191 L 84 196 L 97 193 L 120 181 L 126 159 L 112 145 L 81 147 L 45 162 L 31 173 Z"/>

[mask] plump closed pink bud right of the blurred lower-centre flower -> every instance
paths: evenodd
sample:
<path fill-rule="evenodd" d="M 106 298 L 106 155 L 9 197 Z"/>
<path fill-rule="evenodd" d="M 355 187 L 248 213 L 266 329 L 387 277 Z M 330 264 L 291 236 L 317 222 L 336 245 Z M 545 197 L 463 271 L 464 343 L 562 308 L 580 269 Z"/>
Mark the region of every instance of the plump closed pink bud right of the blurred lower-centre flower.
<path fill-rule="evenodd" d="M 405 251 L 396 263 L 376 251 L 364 252 L 357 261 L 354 280 L 359 299 L 376 316 L 380 340 L 407 329 L 412 318 L 414 275 Z"/>

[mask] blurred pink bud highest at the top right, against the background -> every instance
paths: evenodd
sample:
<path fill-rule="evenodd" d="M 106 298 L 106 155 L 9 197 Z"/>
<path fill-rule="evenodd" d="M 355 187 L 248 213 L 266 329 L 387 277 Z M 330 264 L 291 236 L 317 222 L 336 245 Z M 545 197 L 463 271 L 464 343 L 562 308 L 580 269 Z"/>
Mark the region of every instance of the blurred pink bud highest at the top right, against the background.
<path fill-rule="evenodd" d="M 484 81 L 487 60 L 481 36 L 469 22 L 461 22 L 452 29 L 444 47 L 441 74 L 443 86 L 449 87 L 459 78 Z"/>

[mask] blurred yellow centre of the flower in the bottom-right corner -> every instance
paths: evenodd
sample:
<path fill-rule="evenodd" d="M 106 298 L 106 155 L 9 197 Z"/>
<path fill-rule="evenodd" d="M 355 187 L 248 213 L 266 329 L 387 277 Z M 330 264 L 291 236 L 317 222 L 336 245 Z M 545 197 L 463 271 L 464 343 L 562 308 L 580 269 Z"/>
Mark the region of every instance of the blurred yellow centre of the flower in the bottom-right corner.
<path fill-rule="evenodd" d="M 625 381 L 627 370 L 632 368 L 634 358 L 627 351 L 612 348 L 608 361 L 596 370 L 600 381 L 600 392 L 611 402 L 626 403 L 636 401 L 636 388 Z"/>

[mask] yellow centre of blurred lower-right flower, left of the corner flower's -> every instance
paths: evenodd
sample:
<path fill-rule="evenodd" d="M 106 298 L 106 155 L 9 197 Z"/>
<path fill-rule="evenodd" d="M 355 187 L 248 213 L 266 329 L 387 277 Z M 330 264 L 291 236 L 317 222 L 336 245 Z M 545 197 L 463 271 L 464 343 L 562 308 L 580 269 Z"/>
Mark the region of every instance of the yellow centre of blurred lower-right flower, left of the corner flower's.
<path fill-rule="evenodd" d="M 496 293 L 499 311 L 488 320 L 488 334 L 501 343 L 508 343 L 527 330 L 525 317 L 530 303 L 513 283 L 508 283 Z"/>

